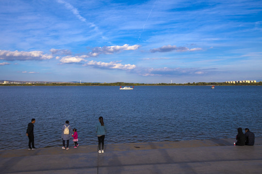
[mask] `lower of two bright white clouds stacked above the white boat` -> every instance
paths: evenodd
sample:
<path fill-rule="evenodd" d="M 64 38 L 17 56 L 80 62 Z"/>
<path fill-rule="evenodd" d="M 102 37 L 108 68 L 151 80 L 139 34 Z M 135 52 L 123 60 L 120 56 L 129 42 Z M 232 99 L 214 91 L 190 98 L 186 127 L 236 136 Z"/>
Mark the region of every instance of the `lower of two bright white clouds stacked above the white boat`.
<path fill-rule="evenodd" d="M 121 63 L 117 63 L 117 62 L 101 62 L 101 61 L 94 61 L 91 60 L 87 63 L 85 63 L 83 66 L 94 66 L 94 67 L 98 67 L 98 68 L 105 68 L 105 69 L 120 69 L 120 70 L 132 70 L 134 69 L 136 66 L 135 65 L 131 65 L 131 64 L 126 64 L 123 65 Z"/>

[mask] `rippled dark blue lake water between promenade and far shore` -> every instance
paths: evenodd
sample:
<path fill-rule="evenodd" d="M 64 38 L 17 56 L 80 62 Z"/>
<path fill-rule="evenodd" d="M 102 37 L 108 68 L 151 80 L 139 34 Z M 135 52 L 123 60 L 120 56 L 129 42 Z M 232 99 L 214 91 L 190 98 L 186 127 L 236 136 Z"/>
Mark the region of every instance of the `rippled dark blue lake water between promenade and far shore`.
<path fill-rule="evenodd" d="M 36 147 L 62 146 L 66 120 L 80 145 L 97 145 L 99 116 L 105 144 L 235 138 L 238 127 L 262 137 L 262 87 L 0 87 L 0 149 L 27 148 L 32 118 Z"/>

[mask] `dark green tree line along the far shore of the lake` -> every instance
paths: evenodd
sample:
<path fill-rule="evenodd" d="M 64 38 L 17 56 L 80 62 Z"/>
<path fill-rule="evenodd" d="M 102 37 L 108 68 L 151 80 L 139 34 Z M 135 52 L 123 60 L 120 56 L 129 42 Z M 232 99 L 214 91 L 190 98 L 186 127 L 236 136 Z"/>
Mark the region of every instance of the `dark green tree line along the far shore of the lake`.
<path fill-rule="evenodd" d="M 31 83 L 8 83 L 0 84 L 0 86 L 261 86 L 262 82 L 257 83 L 226 83 L 226 82 L 193 82 L 193 83 L 125 83 L 125 82 L 115 82 L 115 83 L 77 83 L 77 82 L 31 82 Z"/>

